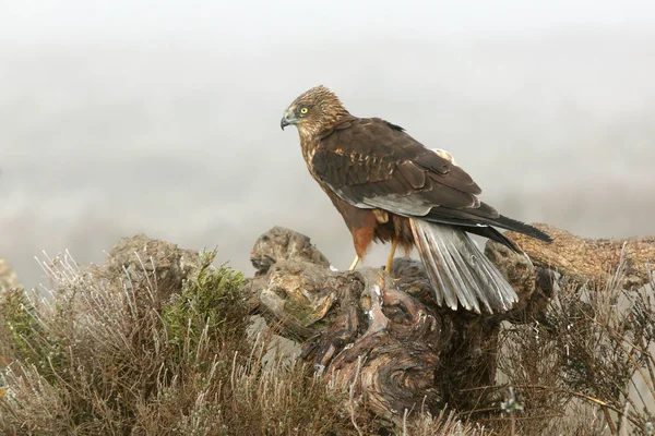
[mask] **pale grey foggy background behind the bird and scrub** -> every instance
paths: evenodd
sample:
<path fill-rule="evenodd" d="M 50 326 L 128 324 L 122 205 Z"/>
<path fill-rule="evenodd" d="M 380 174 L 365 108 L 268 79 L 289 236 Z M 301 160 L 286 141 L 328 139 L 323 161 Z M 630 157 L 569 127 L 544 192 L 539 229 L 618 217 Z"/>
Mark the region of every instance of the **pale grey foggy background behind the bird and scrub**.
<path fill-rule="evenodd" d="M 504 215 L 655 233 L 655 2 L 0 2 L 0 257 L 145 232 L 251 275 L 275 225 L 354 251 L 287 105 L 324 84 L 451 152 Z M 382 265 L 378 246 L 366 261 Z"/>

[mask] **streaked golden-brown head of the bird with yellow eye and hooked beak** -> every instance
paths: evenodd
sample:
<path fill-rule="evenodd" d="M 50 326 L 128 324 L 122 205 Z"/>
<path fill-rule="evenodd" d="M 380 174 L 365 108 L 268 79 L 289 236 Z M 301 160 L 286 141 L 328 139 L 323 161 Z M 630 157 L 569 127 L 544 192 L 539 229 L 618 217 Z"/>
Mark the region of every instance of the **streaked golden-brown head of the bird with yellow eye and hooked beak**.
<path fill-rule="evenodd" d="M 338 97 L 323 85 L 302 93 L 285 110 L 279 122 L 282 130 L 295 125 L 301 136 L 313 136 L 330 129 L 348 114 Z"/>

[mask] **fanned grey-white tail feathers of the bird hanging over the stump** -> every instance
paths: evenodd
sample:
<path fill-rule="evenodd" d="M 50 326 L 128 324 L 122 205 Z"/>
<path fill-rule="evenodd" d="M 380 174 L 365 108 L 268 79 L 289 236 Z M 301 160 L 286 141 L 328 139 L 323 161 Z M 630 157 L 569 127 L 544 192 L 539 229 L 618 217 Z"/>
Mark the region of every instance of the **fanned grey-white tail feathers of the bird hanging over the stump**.
<path fill-rule="evenodd" d="M 414 241 L 439 305 L 457 303 L 480 313 L 507 312 L 519 301 L 514 289 L 463 230 L 410 219 Z"/>

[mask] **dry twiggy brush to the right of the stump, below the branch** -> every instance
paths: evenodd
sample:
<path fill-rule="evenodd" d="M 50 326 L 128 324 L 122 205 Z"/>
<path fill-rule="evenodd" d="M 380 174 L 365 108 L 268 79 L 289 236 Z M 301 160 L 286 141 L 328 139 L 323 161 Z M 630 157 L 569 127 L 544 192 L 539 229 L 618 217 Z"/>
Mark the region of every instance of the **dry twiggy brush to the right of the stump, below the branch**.
<path fill-rule="evenodd" d="M 522 405 L 504 413 L 520 434 L 654 434 L 653 286 L 623 291 L 621 274 L 606 288 L 564 286 L 545 324 L 504 329 L 499 378 Z"/>

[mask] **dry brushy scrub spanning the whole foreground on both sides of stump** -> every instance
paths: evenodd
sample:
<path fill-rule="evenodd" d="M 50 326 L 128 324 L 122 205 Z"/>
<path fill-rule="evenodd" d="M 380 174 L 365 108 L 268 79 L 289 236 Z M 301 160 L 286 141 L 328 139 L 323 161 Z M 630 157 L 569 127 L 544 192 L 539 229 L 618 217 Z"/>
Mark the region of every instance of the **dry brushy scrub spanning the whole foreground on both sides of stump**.
<path fill-rule="evenodd" d="M 478 389 L 475 413 L 419 412 L 384 428 L 348 385 L 272 352 L 266 334 L 249 337 L 242 278 L 212 259 L 201 255 L 181 289 L 165 289 L 152 259 L 117 272 L 63 256 L 44 265 L 46 298 L 2 293 L 0 433 L 653 434 L 652 291 L 565 288 L 547 323 L 503 329 L 502 384 Z M 646 388 L 635 397 L 638 378 Z"/>

